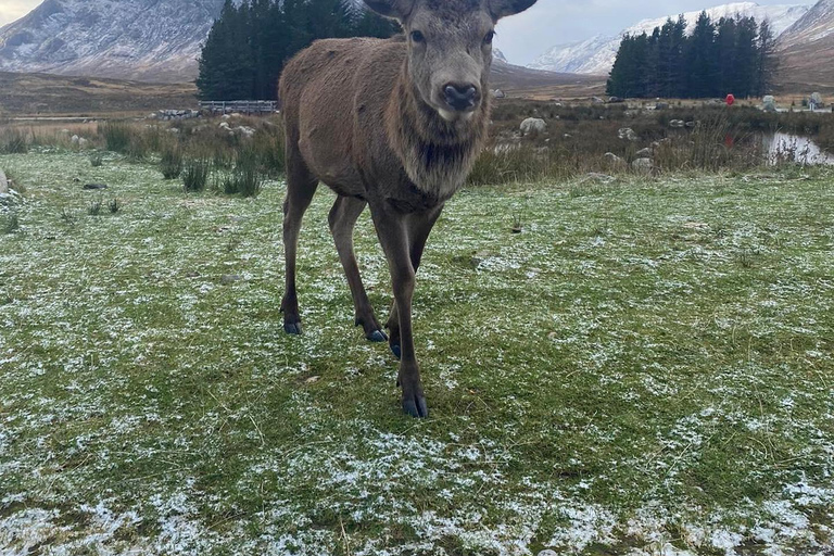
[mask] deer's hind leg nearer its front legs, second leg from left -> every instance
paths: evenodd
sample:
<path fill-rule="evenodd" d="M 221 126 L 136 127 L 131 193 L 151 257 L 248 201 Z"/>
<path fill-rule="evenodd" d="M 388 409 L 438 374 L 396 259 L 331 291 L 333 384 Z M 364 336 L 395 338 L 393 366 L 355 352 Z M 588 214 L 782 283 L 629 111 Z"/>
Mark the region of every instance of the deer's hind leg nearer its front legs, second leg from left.
<path fill-rule="evenodd" d="M 336 242 L 336 250 L 339 252 L 339 260 L 344 268 L 344 276 L 348 278 L 348 286 L 351 288 L 353 304 L 356 308 L 355 324 L 363 327 L 365 338 L 371 342 L 384 342 L 388 337 L 374 315 L 374 308 L 370 306 L 365 286 L 362 283 L 359 267 L 353 252 L 353 228 L 366 205 L 367 203 L 361 199 L 339 195 L 330 210 L 328 222 Z"/>

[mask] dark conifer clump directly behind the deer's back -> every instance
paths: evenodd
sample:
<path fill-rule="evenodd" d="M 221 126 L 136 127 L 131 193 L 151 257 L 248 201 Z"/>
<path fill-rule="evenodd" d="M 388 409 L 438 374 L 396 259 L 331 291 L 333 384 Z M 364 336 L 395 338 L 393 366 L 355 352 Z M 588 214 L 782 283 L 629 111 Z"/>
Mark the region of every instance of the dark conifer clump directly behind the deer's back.
<path fill-rule="evenodd" d="M 202 47 L 199 97 L 275 100 L 283 64 L 314 40 L 396 29 L 354 0 L 226 0 Z"/>

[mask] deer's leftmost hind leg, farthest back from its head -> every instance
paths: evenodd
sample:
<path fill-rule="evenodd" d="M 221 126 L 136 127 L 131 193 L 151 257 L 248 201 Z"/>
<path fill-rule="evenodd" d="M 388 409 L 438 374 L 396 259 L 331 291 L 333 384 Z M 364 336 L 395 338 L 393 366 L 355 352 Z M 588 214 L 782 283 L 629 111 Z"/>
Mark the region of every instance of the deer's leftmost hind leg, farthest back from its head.
<path fill-rule="evenodd" d="M 313 201 L 318 180 L 301 161 L 299 153 L 287 156 L 287 198 L 283 201 L 283 251 L 286 264 L 286 290 L 281 301 L 283 331 L 301 333 L 299 295 L 295 290 L 295 258 L 299 248 L 299 232 L 304 213 Z"/>

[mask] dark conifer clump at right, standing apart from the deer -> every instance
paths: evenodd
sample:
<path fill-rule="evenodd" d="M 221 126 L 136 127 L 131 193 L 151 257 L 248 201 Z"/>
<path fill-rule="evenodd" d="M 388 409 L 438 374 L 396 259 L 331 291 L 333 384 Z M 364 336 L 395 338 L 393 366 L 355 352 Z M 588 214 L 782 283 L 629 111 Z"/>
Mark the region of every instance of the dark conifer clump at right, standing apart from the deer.
<path fill-rule="evenodd" d="M 627 35 L 607 93 L 632 98 L 761 97 L 778 60 L 770 23 L 736 15 L 713 22 L 702 12 L 692 34 L 683 15 L 648 35 Z"/>

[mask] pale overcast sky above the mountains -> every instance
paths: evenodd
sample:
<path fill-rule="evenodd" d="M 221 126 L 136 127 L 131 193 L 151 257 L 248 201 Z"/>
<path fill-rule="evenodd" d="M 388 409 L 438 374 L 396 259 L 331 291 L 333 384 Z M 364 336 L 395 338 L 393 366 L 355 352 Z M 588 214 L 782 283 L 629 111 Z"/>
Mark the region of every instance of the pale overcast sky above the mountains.
<path fill-rule="evenodd" d="M 527 64 L 545 50 L 594 35 L 616 35 L 647 17 L 694 12 L 733 0 L 539 0 L 527 12 L 504 20 L 496 46 L 515 64 Z M 25 15 L 41 0 L 0 0 L 0 25 Z M 758 0 L 759 4 L 797 4 L 806 0 Z"/>

